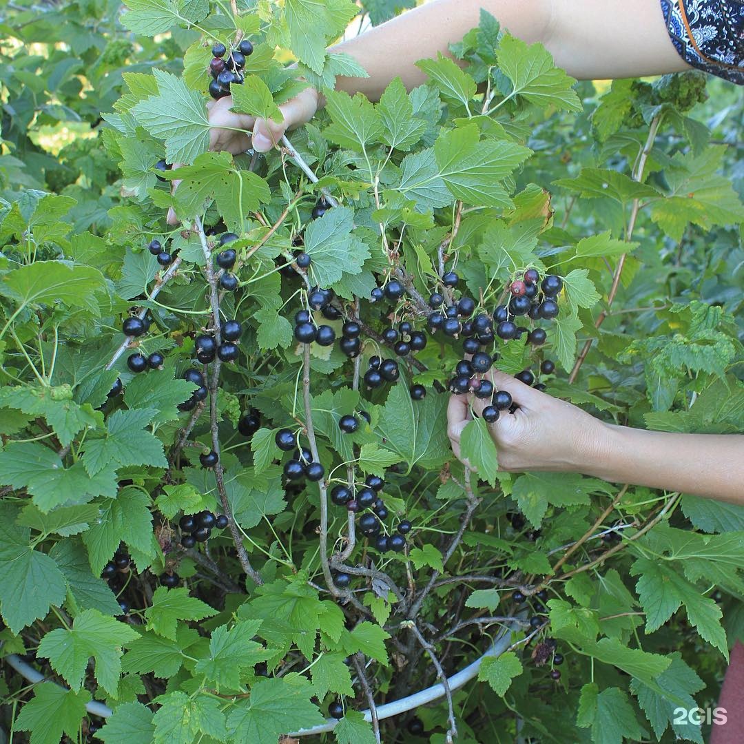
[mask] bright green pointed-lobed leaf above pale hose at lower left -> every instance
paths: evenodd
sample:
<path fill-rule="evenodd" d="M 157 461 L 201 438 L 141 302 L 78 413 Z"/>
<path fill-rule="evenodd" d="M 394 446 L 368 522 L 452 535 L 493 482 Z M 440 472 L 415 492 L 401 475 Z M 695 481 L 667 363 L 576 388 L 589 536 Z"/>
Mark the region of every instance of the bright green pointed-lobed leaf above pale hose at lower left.
<path fill-rule="evenodd" d="M 109 695 L 116 697 L 121 676 L 121 646 L 138 634 L 126 623 L 86 609 L 75 618 L 71 629 L 57 628 L 42 638 L 36 654 L 48 658 L 54 670 L 70 687 L 79 691 L 88 667 L 95 659 L 95 678 Z"/>

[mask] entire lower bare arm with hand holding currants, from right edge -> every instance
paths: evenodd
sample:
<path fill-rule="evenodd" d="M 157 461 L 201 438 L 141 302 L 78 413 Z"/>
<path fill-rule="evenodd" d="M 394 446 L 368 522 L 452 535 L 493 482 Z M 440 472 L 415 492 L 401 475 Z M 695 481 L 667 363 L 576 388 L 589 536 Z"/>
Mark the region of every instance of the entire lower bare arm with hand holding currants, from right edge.
<path fill-rule="evenodd" d="M 502 412 L 489 431 L 498 464 L 509 472 L 581 472 L 614 483 L 679 491 L 744 504 L 744 436 L 648 432 L 603 423 L 571 403 L 493 372 L 496 389 L 519 408 Z M 448 434 L 455 455 L 460 437 L 487 401 L 462 395 L 449 402 Z"/>

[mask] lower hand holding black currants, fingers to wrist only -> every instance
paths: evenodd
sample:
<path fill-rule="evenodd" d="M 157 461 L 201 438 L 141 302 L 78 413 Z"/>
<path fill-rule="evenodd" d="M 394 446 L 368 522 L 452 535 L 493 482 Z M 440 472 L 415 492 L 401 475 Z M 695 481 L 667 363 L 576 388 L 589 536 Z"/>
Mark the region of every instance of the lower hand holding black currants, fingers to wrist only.
<path fill-rule="evenodd" d="M 586 472 L 606 457 L 607 427 L 576 405 L 543 393 L 496 370 L 484 377 L 495 390 L 505 390 L 519 407 L 510 414 L 501 411 L 488 430 L 498 449 L 498 469 L 507 472 L 547 470 Z M 480 416 L 490 400 L 453 395 L 447 408 L 447 434 L 455 456 L 461 456 L 460 437 L 472 420 Z M 472 411 L 471 411 L 472 406 Z"/>

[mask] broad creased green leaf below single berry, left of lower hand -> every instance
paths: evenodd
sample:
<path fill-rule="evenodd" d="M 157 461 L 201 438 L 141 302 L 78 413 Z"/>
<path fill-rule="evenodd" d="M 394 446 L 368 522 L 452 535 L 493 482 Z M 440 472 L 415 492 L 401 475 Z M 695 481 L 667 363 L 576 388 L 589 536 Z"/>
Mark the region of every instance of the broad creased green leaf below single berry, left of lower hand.
<path fill-rule="evenodd" d="M 414 401 L 408 385 L 398 382 L 380 412 L 376 433 L 386 449 L 408 463 L 409 471 L 414 465 L 439 467 L 452 452 L 446 436 L 446 396 L 430 393 Z"/>

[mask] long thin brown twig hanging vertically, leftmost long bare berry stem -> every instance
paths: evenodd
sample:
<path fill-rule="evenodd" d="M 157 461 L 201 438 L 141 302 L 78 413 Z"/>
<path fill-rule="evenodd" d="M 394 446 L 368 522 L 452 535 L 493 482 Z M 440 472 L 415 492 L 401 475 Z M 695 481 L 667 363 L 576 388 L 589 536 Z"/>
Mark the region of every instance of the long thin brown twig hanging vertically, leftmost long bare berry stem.
<path fill-rule="evenodd" d="M 209 283 L 209 300 L 212 308 L 212 324 L 214 326 L 214 335 L 219 345 L 221 341 L 221 327 L 219 322 L 219 292 L 217 291 L 217 277 L 214 275 L 214 268 L 212 266 L 212 253 L 208 246 L 207 239 L 204 234 L 204 225 L 199 217 L 195 219 L 196 231 L 199 234 L 199 242 L 202 243 L 202 251 L 204 252 L 205 266 L 204 272 Z M 228 500 L 228 494 L 225 490 L 225 478 L 222 472 L 222 461 L 219 459 L 219 430 L 217 422 L 217 391 L 219 389 L 219 368 L 221 362 L 219 357 L 214 360 L 214 367 L 212 369 L 212 376 L 208 380 L 209 383 L 209 423 L 212 434 L 212 449 L 217 454 L 217 464 L 214 466 L 214 480 L 217 482 L 217 493 L 219 495 L 219 501 L 222 504 L 222 513 L 228 518 L 228 527 L 235 544 L 235 550 L 237 551 L 237 557 L 240 561 L 240 565 L 243 566 L 243 571 L 251 577 L 257 584 L 263 584 L 263 580 L 260 577 L 258 571 L 253 568 L 251 561 L 248 558 L 248 553 L 245 546 L 243 545 L 243 536 L 240 534 L 235 519 L 230 507 L 230 501 Z"/>

